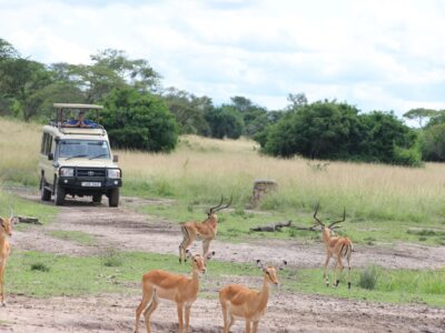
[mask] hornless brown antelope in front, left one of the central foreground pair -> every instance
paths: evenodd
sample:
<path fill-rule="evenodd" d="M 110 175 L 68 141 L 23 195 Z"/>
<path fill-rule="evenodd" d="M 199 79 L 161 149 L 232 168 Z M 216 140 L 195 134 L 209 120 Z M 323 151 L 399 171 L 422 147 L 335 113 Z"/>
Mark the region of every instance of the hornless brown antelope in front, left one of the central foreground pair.
<path fill-rule="evenodd" d="M 142 301 L 136 310 L 135 332 L 139 332 L 139 317 L 144 311 L 147 332 L 150 333 L 150 316 L 158 307 L 160 299 L 174 301 L 178 309 L 179 333 L 182 333 L 184 314 L 186 317 L 186 332 L 189 332 L 190 309 L 199 290 L 199 275 L 206 272 L 206 260 L 210 259 L 200 254 L 191 255 L 191 278 L 172 274 L 161 270 L 150 271 L 142 276 Z M 148 305 L 148 306 L 147 306 Z"/>

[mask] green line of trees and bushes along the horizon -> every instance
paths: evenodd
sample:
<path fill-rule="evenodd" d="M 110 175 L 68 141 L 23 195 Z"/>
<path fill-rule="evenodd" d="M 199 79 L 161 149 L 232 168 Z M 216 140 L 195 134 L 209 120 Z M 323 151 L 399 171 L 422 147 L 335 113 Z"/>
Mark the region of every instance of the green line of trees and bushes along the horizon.
<path fill-rule="evenodd" d="M 419 125 L 412 129 L 393 112 L 363 113 L 335 100 L 309 103 L 304 93 L 289 93 L 283 110 L 267 110 L 239 95 L 215 105 L 209 97 L 164 88 L 147 60 L 113 49 L 90 58 L 89 64 L 44 64 L 0 39 L 0 115 L 46 121 L 53 102 L 99 103 L 106 107 L 101 119 L 118 148 L 168 152 L 178 134 L 192 133 L 249 137 L 263 153 L 281 158 L 413 167 L 445 160 L 444 110 L 409 110 L 404 117 Z"/>

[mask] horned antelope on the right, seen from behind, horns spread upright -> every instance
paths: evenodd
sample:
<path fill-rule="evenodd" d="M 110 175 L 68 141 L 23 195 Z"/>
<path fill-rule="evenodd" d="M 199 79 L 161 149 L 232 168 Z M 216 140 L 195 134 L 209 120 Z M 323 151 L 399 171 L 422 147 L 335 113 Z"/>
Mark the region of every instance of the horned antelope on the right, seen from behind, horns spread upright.
<path fill-rule="evenodd" d="M 327 265 L 332 256 L 337 259 L 337 262 L 334 266 L 334 281 L 335 286 L 338 285 L 339 279 L 343 272 L 343 262 L 342 259 L 346 258 L 348 265 L 348 289 L 350 289 L 350 255 L 353 253 L 353 242 L 348 238 L 342 236 L 333 236 L 333 229 L 335 224 L 342 223 L 346 219 L 346 209 L 343 210 L 343 219 L 339 221 L 334 221 L 328 226 L 325 225 L 319 219 L 317 219 L 318 206 L 315 209 L 314 220 L 322 226 L 322 239 L 326 245 L 326 261 L 323 278 L 325 279 L 326 285 L 329 285 L 329 279 L 327 276 Z M 339 269 L 339 278 L 336 280 L 337 268 Z"/>

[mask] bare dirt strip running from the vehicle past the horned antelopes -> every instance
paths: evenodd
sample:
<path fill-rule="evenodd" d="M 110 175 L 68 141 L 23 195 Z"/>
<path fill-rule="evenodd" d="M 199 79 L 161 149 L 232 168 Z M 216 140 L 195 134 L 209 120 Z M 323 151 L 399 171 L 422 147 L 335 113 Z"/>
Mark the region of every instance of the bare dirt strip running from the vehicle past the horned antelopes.
<path fill-rule="evenodd" d="M 34 194 L 21 194 L 29 200 L 39 201 Z M 131 205 L 169 204 L 170 201 L 126 199 Z M 97 244 L 80 246 L 70 241 L 50 238 L 49 230 L 82 231 L 95 235 Z M 51 240 L 50 242 L 48 240 Z M 119 251 L 147 251 L 164 254 L 178 254 L 181 241 L 179 226 L 154 216 L 146 216 L 125 206 L 108 208 L 90 201 L 68 201 L 62 206 L 57 222 L 48 226 L 32 226 L 26 232 L 17 232 L 14 243 L 18 249 L 57 252 L 69 255 L 97 254 L 105 249 Z M 192 251 L 201 251 L 200 242 Z M 216 259 L 229 262 L 253 262 L 267 259 L 271 263 L 286 259 L 297 268 L 318 268 L 325 258 L 322 242 L 300 240 L 250 240 L 233 243 L 215 240 L 211 249 Z M 397 243 L 393 248 L 356 245 L 354 266 L 378 264 L 392 269 L 437 269 L 445 265 L 445 246 L 432 248 L 418 244 Z"/>

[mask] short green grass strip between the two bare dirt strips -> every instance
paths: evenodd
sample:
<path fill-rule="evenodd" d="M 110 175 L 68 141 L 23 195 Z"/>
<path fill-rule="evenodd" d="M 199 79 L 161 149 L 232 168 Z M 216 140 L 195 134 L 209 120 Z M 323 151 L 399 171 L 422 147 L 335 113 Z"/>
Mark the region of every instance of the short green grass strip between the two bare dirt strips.
<path fill-rule="evenodd" d="M 38 297 L 99 293 L 138 294 L 141 276 L 149 270 L 162 269 L 181 274 L 190 272 L 190 264 L 178 264 L 175 255 L 123 252 L 119 254 L 121 261 L 118 266 L 106 264 L 108 255 L 73 258 L 39 252 L 14 252 L 7 269 L 7 293 Z M 36 270 L 32 266 L 46 269 Z M 217 297 L 216 291 L 221 286 L 221 278 L 224 281 L 230 281 L 230 276 L 257 276 L 257 282 L 251 286 L 259 287 L 261 284 L 261 273 L 254 263 L 209 261 L 207 269 L 208 274 L 202 279 L 202 293 L 206 297 Z M 445 306 L 445 269 L 377 270 L 378 279 L 374 290 L 359 287 L 359 270 L 353 270 L 352 290 L 347 290 L 346 273 L 337 289 L 325 286 L 320 269 L 286 269 L 278 274 L 284 290 L 289 292 Z"/>

